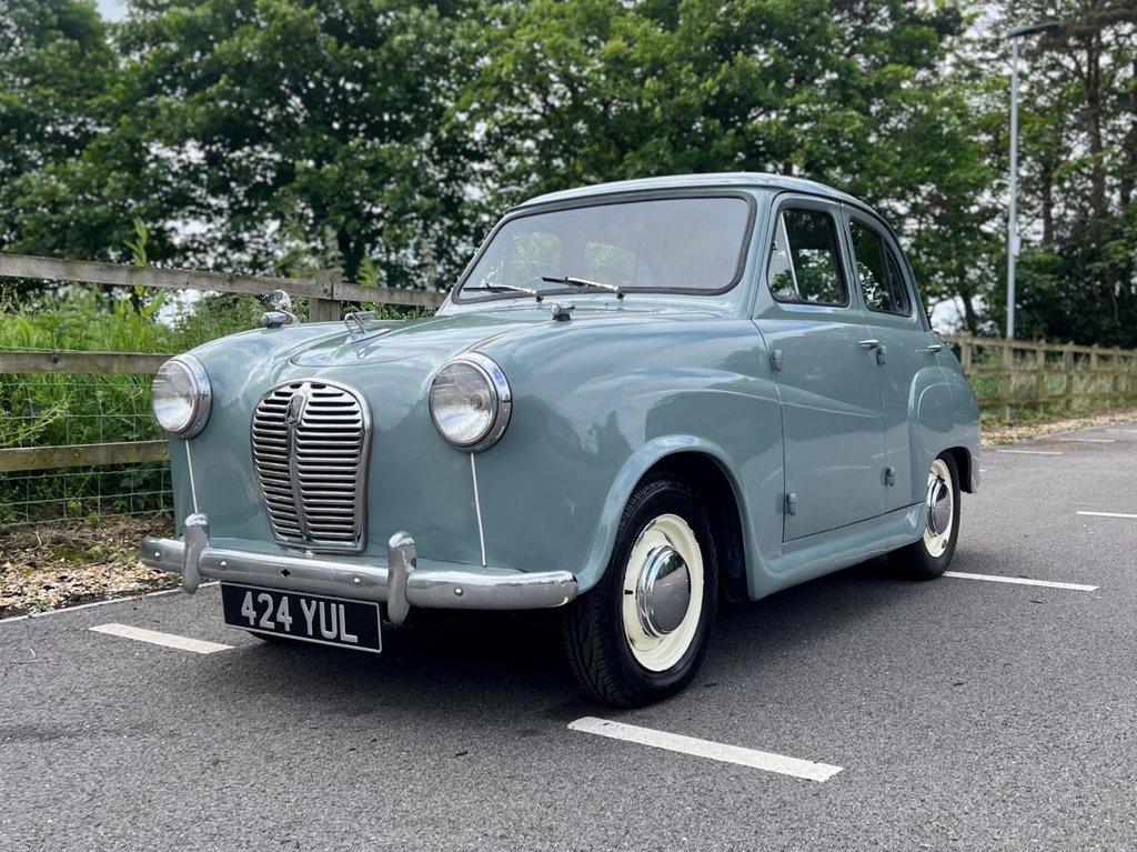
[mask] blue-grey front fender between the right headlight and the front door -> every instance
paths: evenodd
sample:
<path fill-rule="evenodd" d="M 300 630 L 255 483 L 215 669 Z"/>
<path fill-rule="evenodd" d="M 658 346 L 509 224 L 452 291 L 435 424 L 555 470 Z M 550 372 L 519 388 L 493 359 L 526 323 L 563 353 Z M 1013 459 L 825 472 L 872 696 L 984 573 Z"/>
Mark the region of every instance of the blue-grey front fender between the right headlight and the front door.
<path fill-rule="evenodd" d="M 783 489 L 781 412 L 753 323 L 558 331 L 485 347 L 514 392 L 508 431 L 475 460 L 488 561 L 570 570 L 587 590 L 636 483 L 699 453 L 735 490 L 753 582 L 780 554 Z"/>

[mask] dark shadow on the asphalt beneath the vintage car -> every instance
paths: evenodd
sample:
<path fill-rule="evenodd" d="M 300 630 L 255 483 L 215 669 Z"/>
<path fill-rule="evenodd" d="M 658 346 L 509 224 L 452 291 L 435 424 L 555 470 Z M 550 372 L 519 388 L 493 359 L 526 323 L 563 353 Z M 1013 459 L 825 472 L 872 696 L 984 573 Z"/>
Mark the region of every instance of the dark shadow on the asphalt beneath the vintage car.
<path fill-rule="evenodd" d="M 696 686 L 745 671 L 775 677 L 787 646 L 815 646 L 856 634 L 879 610 L 918 594 L 874 560 L 719 611 L 708 657 Z M 259 692 L 293 708 L 343 717 L 406 711 L 500 723 L 571 721 L 603 712 L 573 680 L 561 645 L 559 615 L 467 613 L 399 628 L 384 624 L 383 653 L 307 643 L 243 643 L 199 670 L 202 689 Z M 764 671 L 770 669 L 770 671 Z M 208 683 L 216 681 L 216 683 Z"/>

